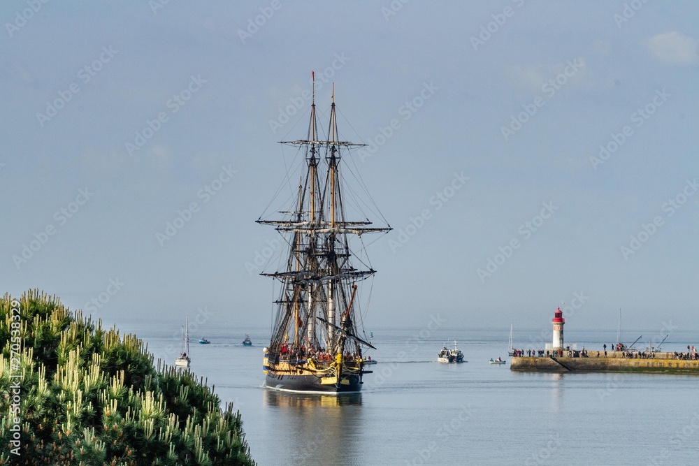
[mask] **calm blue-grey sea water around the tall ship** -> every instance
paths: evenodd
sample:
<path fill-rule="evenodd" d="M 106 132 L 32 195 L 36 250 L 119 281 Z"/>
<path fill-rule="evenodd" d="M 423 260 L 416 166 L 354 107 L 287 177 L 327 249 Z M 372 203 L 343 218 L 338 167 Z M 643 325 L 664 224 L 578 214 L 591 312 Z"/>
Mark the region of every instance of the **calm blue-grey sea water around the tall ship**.
<path fill-rule="evenodd" d="M 168 362 L 180 349 L 179 328 L 121 328 Z M 253 347 L 243 347 L 245 333 Z M 379 363 L 359 395 L 262 388 L 262 328 L 217 328 L 208 345 L 192 335 L 192 370 L 240 409 L 260 465 L 699 464 L 699 377 L 511 372 L 509 329 L 373 333 L 368 354 Z M 539 333 L 515 330 L 515 347 Z M 616 340 L 615 331 L 565 336 L 591 351 Z M 686 351 L 695 337 L 675 331 L 663 349 Z M 453 339 L 468 363 L 436 363 Z M 498 356 L 507 365 L 488 363 Z"/>

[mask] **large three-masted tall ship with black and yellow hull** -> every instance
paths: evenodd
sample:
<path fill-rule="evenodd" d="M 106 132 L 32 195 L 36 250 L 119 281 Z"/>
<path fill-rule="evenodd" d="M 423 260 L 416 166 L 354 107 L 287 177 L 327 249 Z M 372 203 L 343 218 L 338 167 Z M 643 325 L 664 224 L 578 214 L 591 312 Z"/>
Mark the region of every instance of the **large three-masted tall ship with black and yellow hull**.
<path fill-rule="evenodd" d="M 281 284 L 262 365 L 267 388 L 356 393 L 361 391 L 364 374 L 371 372 L 365 370 L 363 348 L 374 348 L 361 326 L 360 306 L 366 303 L 360 304 L 359 283 L 375 273 L 366 258 L 363 235 L 391 228 L 373 201 L 358 201 L 368 194 L 358 194 L 366 193 L 366 188 L 356 173 L 352 152 L 363 144 L 340 139 L 334 84 L 327 133 L 318 132 L 315 77 L 312 82 L 307 136 L 281 141 L 298 150 L 298 165 L 294 165 L 301 170 L 298 192 L 291 193 L 290 205 L 257 219 L 258 224 L 275 226 L 284 235 L 282 245 L 287 245 L 282 268 L 261 273 Z M 343 176 L 345 172 L 348 177 Z M 351 188 L 354 181 L 358 184 Z M 287 185 L 288 178 L 280 190 Z M 365 214 L 362 207 L 372 213 Z M 278 214 L 283 218 L 274 218 Z M 355 215 L 359 218 L 352 218 Z M 379 216 L 386 226 L 373 226 L 370 216 Z M 366 291 L 368 295 L 370 286 Z"/>

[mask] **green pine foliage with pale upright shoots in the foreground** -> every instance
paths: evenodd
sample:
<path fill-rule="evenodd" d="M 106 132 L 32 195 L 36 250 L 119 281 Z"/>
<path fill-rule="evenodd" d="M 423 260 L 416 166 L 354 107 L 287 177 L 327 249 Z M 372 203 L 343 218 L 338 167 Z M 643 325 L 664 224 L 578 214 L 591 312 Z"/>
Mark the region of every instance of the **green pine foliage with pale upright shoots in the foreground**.
<path fill-rule="evenodd" d="M 20 367 L 11 368 L 11 300 L 0 298 L 0 465 L 255 464 L 240 412 L 222 408 L 205 381 L 156 367 L 143 341 L 103 329 L 56 296 L 34 290 L 20 299 Z M 20 456 L 10 453 L 16 381 Z"/>

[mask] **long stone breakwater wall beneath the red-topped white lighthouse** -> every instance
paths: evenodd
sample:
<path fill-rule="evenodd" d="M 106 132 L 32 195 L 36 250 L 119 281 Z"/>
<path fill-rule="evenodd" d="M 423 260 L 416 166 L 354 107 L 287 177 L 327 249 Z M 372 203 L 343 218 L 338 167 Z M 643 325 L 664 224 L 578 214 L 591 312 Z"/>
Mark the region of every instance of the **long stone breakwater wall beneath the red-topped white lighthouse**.
<path fill-rule="evenodd" d="M 512 358 L 510 370 L 519 372 L 660 372 L 665 374 L 699 374 L 699 361 L 675 359 L 672 353 L 663 357 L 638 359 L 596 356 L 589 351 L 588 358 L 520 357 Z M 621 354 L 619 353 L 619 356 Z M 672 358 L 665 355 L 672 355 Z"/>

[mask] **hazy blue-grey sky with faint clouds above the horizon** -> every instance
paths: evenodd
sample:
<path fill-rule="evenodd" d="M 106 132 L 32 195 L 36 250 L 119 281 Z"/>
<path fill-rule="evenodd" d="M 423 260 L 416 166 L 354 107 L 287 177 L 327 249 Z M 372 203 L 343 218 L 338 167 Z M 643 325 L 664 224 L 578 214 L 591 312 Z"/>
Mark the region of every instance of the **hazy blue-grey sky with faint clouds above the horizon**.
<path fill-rule="evenodd" d="M 255 223 L 336 87 L 368 328 L 697 329 L 699 3 L 3 1 L 0 291 L 267 326 Z M 273 206 L 275 208 L 275 206 Z M 369 241 L 367 241 L 369 242 Z M 266 261 L 265 261 L 266 262 Z"/>

